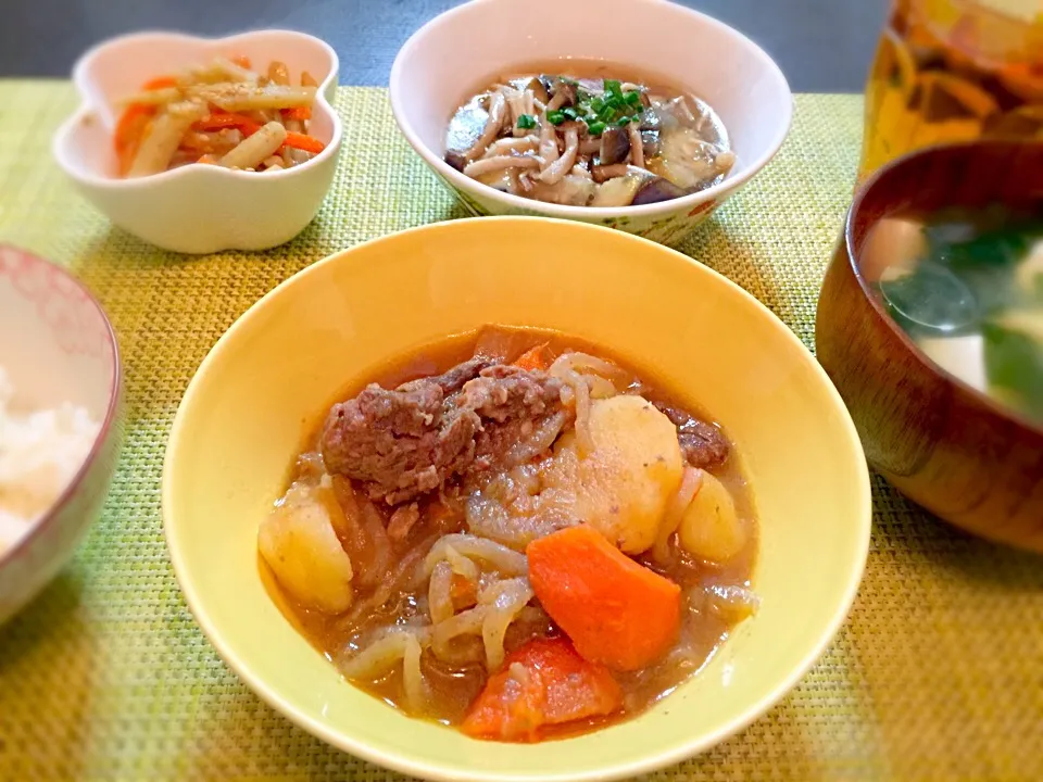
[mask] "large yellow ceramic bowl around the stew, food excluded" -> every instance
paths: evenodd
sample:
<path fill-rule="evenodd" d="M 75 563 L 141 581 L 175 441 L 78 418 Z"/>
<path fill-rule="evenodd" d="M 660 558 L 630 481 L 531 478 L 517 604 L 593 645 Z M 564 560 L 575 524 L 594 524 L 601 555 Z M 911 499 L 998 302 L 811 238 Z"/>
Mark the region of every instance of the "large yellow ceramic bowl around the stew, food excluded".
<path fill-rule="evenodd" d="M 411 720 L 344 682 L 262 585 L 257 525 L 305 431 L 389 356 L 486 323 L 611 348 L 726 427 L 759 508 L 759 613 L 641 717 L 537 745 Z M 439 780 L 607 780 L 681 760 L 781 698 L 858 586 L 869 480 L 840 396 L 754 298 L 671 250 L 544 218 L 456 220 L 378 239 L 284 282 L 222 337 L 174 421 L 163 516 L 204 632 L 272 706 L 342 749 Z"/>

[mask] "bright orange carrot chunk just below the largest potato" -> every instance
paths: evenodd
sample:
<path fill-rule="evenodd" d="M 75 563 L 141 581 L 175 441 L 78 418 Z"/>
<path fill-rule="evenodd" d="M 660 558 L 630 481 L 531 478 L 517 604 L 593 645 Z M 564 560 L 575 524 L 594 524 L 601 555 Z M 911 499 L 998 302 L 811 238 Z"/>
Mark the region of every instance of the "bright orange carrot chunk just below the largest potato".
<path fill-rule="evenodd" d="M 626 556 L 593 527 L 537 539 L 526 555 L 532 591 L 585 659 L 637 670 L 677 641 L 680 586 Z"/>

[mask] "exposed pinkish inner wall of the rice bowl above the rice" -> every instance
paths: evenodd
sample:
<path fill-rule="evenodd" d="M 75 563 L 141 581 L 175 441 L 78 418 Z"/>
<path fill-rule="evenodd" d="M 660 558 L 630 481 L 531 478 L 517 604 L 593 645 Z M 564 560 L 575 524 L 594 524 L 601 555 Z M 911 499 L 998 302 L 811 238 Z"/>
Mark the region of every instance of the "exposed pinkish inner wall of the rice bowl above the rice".
<path fill-rule="evenodd" d="M 0 245 L 0 366 L 20 409 L 63 402 L 103 421 L 112 402 L 116 355 L 98 304 L 63 269 Z"/>

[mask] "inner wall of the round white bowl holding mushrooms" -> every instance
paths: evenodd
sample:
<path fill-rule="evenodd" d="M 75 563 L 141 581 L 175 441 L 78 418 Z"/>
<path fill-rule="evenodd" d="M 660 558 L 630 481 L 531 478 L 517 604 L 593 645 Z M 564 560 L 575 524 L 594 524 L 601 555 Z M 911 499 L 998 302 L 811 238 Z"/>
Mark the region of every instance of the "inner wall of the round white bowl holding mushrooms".
<path fill-rule="evenodd" d="M 557 0 L 466 3 L 403 47 L 392 101 L 406 135 L 440 159 L 449 118 L 469 94 L 518 66 L 563 58 L 618 64 L 624 78 L 633 70 L 708 101 L 732 138 L 731 178 L 763 165 L 789 127 L 790 91 L 775 63 L 725 24 L 664 0 L 601 0 L 596 9 Z"/>

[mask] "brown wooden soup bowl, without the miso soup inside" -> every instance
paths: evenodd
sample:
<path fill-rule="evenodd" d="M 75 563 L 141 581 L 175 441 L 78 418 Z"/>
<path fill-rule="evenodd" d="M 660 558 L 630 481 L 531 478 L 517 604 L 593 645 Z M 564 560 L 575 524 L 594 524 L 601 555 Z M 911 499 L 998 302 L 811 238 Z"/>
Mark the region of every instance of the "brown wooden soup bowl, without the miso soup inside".
<path fill-rule="evenodd" d="M 1043 428 L 947 374 L 871 292 L 882 218 L 908 210 L 1043 205 L 1043 144 L 938 147 L 882 168 L 855 197 L 818 304 L 818 358 L 870 464 L 899 491 L 976 534 L 1043 552 Z"/>

